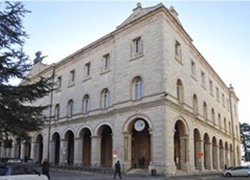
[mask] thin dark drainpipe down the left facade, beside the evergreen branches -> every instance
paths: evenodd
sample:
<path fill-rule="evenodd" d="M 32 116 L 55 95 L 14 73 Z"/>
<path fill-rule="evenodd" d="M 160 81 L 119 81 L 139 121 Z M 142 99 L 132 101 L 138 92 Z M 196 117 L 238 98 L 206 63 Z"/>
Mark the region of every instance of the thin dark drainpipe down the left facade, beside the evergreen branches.
<path fill-rule="evenodd" d="M 50 92 L 50 109 L 49 109 L 49 126 L 48 126 L 48 151 L 47 158 L 50 159 L 50 133 L 51 133 L 51 120 L 52 120 L 52 106 L 53 106 L 53 91 L 54 91 L 54 78 L 55 78 L 55 66 L 52 67 L 52 83 Z"/>

